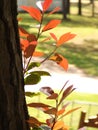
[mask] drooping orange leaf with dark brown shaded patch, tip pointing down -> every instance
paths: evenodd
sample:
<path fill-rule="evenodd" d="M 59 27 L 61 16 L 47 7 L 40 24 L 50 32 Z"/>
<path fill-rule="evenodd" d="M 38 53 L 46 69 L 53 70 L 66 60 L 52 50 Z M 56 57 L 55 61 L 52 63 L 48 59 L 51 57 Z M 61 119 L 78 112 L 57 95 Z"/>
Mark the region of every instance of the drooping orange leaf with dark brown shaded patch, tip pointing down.
<path fill-rule="evenodd" d="M 57 64 L 59 64 L 61 67 L 63 67 L 67 71 L 68 61 L 60 54 L 56 53 L 54 56 L 50 57 L 50 60 L 55 61 Z"/>

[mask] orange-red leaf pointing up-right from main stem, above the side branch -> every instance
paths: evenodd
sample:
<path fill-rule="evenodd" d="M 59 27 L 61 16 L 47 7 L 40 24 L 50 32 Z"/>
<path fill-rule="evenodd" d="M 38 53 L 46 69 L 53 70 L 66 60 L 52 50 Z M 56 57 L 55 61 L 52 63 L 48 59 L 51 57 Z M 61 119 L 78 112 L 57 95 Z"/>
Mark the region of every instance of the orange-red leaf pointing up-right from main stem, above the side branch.
<path fill-rule="evenodd" d="M 61 20 L 51 20 L 49 23 L 47 23 L 44 26 L 44 28 L 42 29 L 42 32 L 55 28 L 58 24 L 60 24 L 60 22 Z"/>

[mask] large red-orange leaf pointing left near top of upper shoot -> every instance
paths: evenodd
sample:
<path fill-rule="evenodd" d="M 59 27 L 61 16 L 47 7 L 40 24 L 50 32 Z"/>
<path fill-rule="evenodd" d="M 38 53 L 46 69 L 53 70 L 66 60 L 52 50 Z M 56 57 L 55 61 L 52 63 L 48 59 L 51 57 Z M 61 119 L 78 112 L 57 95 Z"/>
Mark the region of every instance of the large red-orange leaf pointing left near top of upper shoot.
<path fill-rule="evenodd" d="M 21 8 L 27 11 L 34 19 L 41 22 L 41 12 L 37 8 L 31 6 L 21 6 Z"/>

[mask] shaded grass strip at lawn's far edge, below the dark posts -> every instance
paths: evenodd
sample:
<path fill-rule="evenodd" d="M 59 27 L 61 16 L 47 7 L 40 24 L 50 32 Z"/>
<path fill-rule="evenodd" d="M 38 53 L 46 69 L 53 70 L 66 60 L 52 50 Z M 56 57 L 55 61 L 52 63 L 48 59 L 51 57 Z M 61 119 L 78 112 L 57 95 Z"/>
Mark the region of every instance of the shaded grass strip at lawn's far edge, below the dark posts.
<path fill-rule="evenodd" d="M 47 14 L 45 14 L 45 20 L 44 23 L 49 22 L 52 19 L 61 19 L 63 18 L 62 13 L 56 13 L 52 14 L 49 17 L 46 17 Z M 23 18 L 22 24 L 27 23 L 29 26 L 30 24 L 36 24 L 36 21 L 32 19 L 31 16 L 29 16 L 27 13 L 19 13 L 18 17 Z M 38 24 L 38 23 L 37 23 Z M 67 20 L 62 20 L 62 24 L 60 26 L 66 26 L 66 27 L 98 27 L 98 19 L 96 17 L 87 17 L 87 16 L 78 16 L 78 15 L 68 15 Z"/>

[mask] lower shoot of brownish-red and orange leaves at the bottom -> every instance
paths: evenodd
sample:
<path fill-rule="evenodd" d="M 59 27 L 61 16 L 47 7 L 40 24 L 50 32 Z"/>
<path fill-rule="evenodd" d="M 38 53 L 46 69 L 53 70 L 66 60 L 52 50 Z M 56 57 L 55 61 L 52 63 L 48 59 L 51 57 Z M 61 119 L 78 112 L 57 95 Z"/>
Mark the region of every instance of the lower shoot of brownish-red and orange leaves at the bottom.
<path fill-rule="evenodd" d="M 68 114 L 78 110 L 80 107 L 76 107 L 70 110 L 66 109 L 69 103 L 64 103 L 64 100 L 68 95 L 70 95 L 75 90 L 75 88 L 73 88 L 73 85 L 66 87 L 67 83 L 68 81 L 64 84 L 64 86 L 62 87 L 59 93 L 56 93 L 50 87 L 40 88 L 40 92 L 44 93 L 47 96 L 46 97 L 47 100 L 54 100 L 55 106 L 51 106 L 45 103 L 33 103 L 33 102 L 27 104 L 28 107 L 41 110 L 45 114 L 48 114 L 50 117 L 49 119 L 46 119 L 45 122 L 41 122 L 34 117 L 30 117 L 28 122 L 31 127 L 34 128 L 36 126 L 37 128 L 39 128 L 40 126 L 46 125 L 51 130 L 59 130 L 59 129 L 68 130 L 69 129 L 69 127 L 65 125 L 63 121 L 61 121 L 61 119 L 67 116 Z M 63 102 L 63 105 L 62 105 L 62 102 Z"/>

